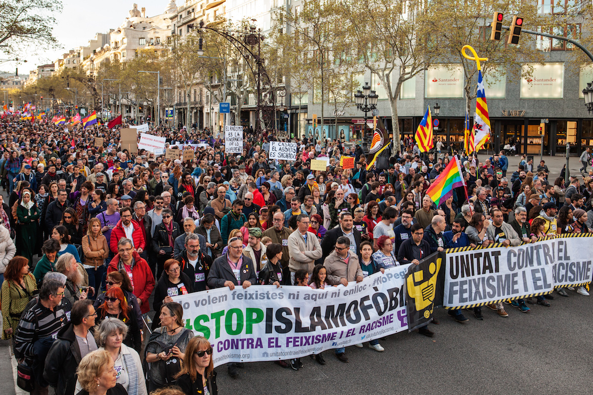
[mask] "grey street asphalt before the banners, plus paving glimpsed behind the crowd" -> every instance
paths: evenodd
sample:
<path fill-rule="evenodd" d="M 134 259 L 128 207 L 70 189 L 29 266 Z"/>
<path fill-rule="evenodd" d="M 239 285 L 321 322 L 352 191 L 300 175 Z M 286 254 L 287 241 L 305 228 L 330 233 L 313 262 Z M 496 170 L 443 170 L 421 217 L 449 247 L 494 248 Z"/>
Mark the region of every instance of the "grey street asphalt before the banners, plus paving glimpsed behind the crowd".
<path fill-rule="evenodd" d="M 480 155 L 482 162 L 487 158 Z M 509 156 L 510 178 L 519 156 Z M 550 181 L 559 176 L 563 157 L 544 157 Z M 534 158 L 534 165 L 539 157 Z M 570 158 L 570 174 L 579 174 L 578 158 Z M 5 193 L 4 193 L 5 194 Z M 591 298 L 569 291 L 570 297 L 554 293 L 551 307 L 528 305 L 521 313 L 509 305 L 502 318 L 487 308 L 484 320 L 460 324 L 437 309 L 440 325 L 426 338 L 416 332 L 401 332 L 381 339 L 385 352 L 349 347 L 349 364 L 329 350 L 327 364 L 302 358 L 299 371 L 273 362 L 251 362 L 240 368 L 240 377 L 229 378 L 225 365 L 216 368 L 221 394 L 588 394 L 593 370 L 593 309 Z M 0 324 L 1 325 L 1 324 Z M 215 351 L 216 352 L 216 351 Z M 24 395 L 15 384 L 15 362 L 10 343 L 0 341 L 0 394 Z M 53 391 L 51 391 L 53 392 Z"/>

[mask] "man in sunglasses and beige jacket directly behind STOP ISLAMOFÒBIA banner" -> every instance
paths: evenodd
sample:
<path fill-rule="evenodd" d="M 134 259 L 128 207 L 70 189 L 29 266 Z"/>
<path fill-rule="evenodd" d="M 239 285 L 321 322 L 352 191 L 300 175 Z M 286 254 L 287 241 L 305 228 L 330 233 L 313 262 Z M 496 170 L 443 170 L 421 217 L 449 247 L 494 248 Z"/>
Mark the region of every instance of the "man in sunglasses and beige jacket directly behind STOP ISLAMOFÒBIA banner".
<path fill-rule="evenodd" d="M 359 242 L 360 243 L 360 242 Z M 330 285 L 348 286 L 351 281 L 361 282 L 364 279 L 358 256 L 350 251 L 350 240 L 346 236 L 337 238 L 333 251 L 323 262 L 326 268 L 326 281 Z M 336 357 L 340 362 L 348 363 L 343 347 L 336 348 Z"/>

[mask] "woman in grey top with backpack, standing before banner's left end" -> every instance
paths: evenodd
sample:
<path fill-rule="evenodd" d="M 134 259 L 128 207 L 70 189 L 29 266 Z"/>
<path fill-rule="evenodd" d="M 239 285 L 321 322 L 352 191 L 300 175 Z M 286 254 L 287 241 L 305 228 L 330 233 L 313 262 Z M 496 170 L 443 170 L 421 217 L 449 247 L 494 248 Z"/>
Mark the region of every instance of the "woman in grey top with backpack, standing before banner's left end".
<path fill-rule="evenodd" d="M 184 327 L 181 304 L 163 303 L 159 319 L 161 327 L 152 333 L 145 349 L 149 393 L 176 383 L 187 343 L 193 338 L 193 332 Z"/>

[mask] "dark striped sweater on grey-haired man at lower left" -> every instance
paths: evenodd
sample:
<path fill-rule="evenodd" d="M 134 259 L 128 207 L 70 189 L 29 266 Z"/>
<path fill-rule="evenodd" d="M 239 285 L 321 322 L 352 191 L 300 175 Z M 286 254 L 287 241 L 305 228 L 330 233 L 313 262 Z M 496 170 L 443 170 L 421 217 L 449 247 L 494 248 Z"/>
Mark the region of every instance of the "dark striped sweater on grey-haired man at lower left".
<path fill-rule="evenodd" d="M 38 301 L 18 323 L 15 349 L 25 358 L 33 358 L 34 343 L 49 337 L 57 339 L 58 331 L 66 322 L 68 318 L 62 306 L 56 306 L 52 311 Z"/>

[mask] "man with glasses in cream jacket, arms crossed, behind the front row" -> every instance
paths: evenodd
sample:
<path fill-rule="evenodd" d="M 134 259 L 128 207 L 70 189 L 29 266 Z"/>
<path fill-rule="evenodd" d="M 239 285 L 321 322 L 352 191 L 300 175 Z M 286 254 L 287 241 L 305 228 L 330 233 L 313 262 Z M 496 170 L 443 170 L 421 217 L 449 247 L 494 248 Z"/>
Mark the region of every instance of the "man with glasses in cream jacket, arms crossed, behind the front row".
<path fill-rule="evenodd" d="M 297 217 L 297 230 L 288 236 L 288 252 L 290 259 L 288 268 L 291 272 L 291 284 L 295 284 L 295 272 L 304 269 L 313 274 L 315 261 L 323 255 L 321 245 L 314 233 L 308 232 L 310 220 L 307 214 Z"/>

